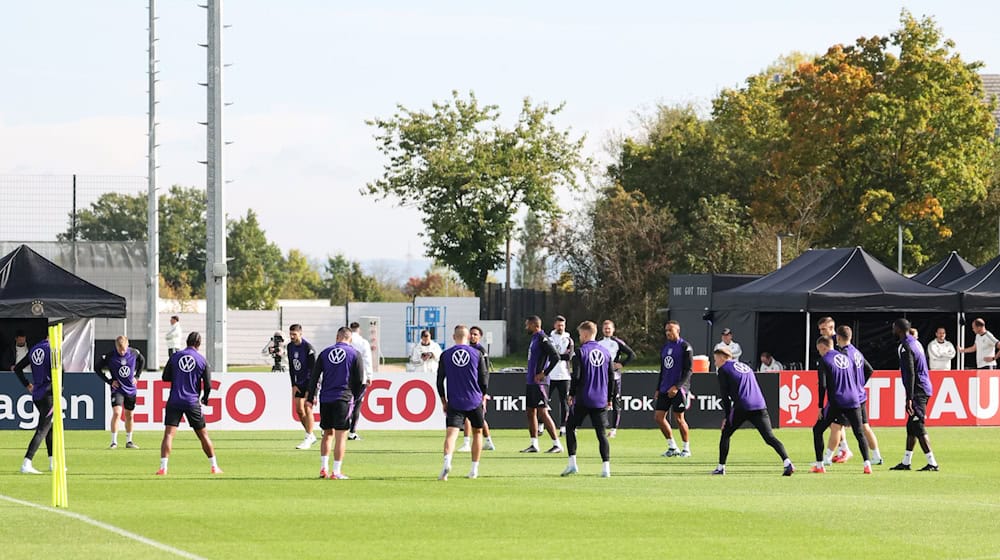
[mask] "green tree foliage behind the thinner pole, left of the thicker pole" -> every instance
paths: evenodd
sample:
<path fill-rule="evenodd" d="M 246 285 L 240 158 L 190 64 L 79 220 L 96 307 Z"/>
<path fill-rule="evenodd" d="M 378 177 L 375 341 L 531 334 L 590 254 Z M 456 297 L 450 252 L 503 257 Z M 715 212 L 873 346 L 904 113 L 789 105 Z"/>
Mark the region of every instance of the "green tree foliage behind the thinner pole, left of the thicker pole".
<path fill-rule="evenodd" d="M 173 185 L 159 198 L 160 276 L 173 289 L 194 296 L 205 293 L 205 191 Z M 77 213 L 76 239 L 145 241 L 147 197 L 105 193 Z M 60 241 L 73 239 L 73 216 Z"/>

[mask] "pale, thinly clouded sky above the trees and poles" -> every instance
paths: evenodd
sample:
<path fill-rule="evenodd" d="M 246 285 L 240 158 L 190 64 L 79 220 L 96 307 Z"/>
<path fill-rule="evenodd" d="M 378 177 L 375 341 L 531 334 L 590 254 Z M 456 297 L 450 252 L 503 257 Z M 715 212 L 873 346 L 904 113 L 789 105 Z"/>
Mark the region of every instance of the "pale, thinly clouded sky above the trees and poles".
<path fill-rule="evenodd" d="M 604 159 L 637 111 L 707 107 L 782 54 L 887 35 L 904 6 L 1000 72 L 1000 2 L 229 0 L 227 212 L 254 208 L 284 250 L 316 258 L 419 257 L 420 216 L 358 192 L 382 168 L 364 121 L 396 103 L 565 101 L 559 124 Z M 157 10 L 160 184 L 203 187 L 205 11 Z M 0 174 L 145 175 L 146 17 L 145 0 L 5 3 Z"/>

